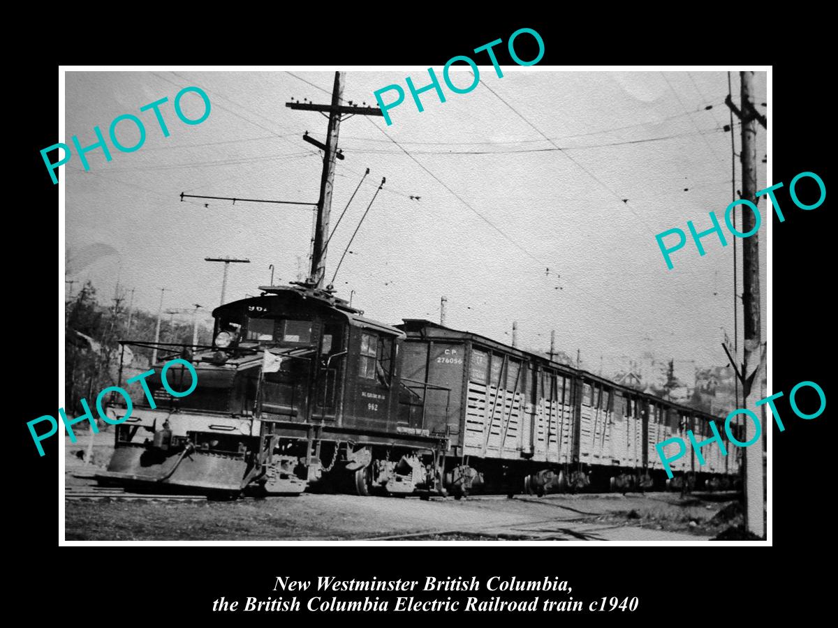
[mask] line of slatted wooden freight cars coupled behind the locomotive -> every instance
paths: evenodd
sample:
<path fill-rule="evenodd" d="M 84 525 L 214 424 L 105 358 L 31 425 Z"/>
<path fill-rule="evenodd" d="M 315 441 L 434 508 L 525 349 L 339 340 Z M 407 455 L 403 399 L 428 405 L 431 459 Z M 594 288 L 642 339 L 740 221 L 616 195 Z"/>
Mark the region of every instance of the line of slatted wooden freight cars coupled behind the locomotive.
<path fill-rule="evenodd" d="M 445 486 L 541 494 L 555 490 L 629 490 L 665 485 L 655 445 L 711 417 L 607 379 L 470 332 L 406 319 L 402 373 L 429 390 L 424 420 L 449 435 Z M 441 411 L 439 390 L 450 391 Z M 703 440 L 703 436 L 702 436 Z M 672 465 L 683 477 L 737 472 L 722 468 L 721 450 L 706 446 L 709 467 L 695 455 Z"/>

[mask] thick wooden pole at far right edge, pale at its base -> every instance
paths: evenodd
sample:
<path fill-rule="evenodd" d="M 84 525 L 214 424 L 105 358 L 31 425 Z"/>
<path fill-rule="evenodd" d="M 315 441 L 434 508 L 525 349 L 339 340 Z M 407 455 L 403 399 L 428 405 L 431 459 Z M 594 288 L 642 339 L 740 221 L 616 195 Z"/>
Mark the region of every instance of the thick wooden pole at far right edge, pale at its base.
<path fill-rule="evenodd" d="M 742 78 L 742 198 L 758 204 L 757 195 L 757 116 L 753 106 L 753 72 L 741 72 Z M 753 212 L 742 211 L 742 232 L 749 233 L 754 224 Z M 756 408 L 763 399 L 761 392 L 765 373 L 762 347 L 762 322 L 759 311 L 759 233 L 742 239 L 742 310 L 744 316 L 745 360 L 742 364 L 743 408 Z M 745 441 L 756 435 L 756 425 L 745 421 Z M 768 428 L 766 428 L 767 430 Z M 768 435 L 763 435 L 768 438 Z M 763 448 L 745 447 L 745 526 L 763 537 Z"/>

